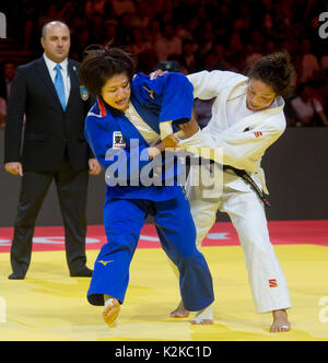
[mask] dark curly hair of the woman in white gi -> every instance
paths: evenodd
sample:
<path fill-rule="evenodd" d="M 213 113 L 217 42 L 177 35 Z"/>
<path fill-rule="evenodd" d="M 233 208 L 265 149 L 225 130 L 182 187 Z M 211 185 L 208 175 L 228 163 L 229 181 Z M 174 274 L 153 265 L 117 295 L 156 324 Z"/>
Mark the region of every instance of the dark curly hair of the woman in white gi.
<path fill-rule="evenodd" d="M 291 81 L 294 71 L 290 54 L 279 51 L 256 62 L 248 71 L 247 77 L 269 84 L 277 95 L 289 97 L 292 93 Z"/>

